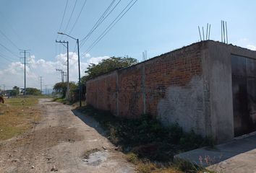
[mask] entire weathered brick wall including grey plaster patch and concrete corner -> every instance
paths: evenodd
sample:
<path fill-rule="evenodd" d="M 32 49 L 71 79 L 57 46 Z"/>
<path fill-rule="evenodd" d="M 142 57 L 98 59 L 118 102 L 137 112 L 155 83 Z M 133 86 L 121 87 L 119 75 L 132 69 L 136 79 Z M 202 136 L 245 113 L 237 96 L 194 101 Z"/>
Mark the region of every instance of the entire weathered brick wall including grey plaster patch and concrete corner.
<path fill-rule="evenodd" d="M 163 125 L 179 123 L 217 143 L 229 141 L 231 55 L 256 59 L 255 51 L 206 40 L 88 81 L 87 102 L 117 116 L 149 113 Z"/>

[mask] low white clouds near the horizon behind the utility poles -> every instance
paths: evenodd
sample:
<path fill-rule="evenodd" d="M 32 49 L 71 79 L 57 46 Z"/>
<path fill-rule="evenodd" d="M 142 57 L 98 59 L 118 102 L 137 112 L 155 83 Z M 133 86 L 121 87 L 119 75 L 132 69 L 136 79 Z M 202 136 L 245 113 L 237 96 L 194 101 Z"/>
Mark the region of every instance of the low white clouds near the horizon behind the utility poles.
<path fill-rule="evenodd" d="M 98 63 L 99 61 L 109 58 L 109 56 L 92 57 L 90 54 L 85 55 L 85 59 L 80 60 L 81 76 L 85 75 L 85 70 L 90 63 Z M 55 57 L 54 61 L 46 61 L 44 59 L 36 60 L 35 56 L 27 59 L 26 76 L 27 86 L 40 88 L 40 78 L 43 76 L 43 87 L 48 88 L 61 81 L 61 73 L 56 68 L 63 69 L 67 72 L 67 53 L 60 54 Z M 0 69 L 1 81 L 0 86 L 5 85 L 6 89 L 12 86 L 24 86 L 24 65 L 20 62 L 10 63 L 4 69 Z M 69 81 L 78 81 L 78 56 L 77 53 L 69 52 Z"/>

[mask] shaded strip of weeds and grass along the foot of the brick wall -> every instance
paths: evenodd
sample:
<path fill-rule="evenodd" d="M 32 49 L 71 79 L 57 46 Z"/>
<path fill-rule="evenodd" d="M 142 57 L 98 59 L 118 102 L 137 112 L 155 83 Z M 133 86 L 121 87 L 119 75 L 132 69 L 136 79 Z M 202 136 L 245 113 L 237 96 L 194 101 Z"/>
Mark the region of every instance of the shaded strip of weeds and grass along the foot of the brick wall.
<path fill-rule="evenodd" d="M 114 117 L 109 112 L 86 106 L 80 111 L 97 120 L 108 139 L 137 165 L 139 172 L 201 172 L 204 169 L 186 161 L 174 163 L 174 155 L 202 146 L 213 146 L 210 138 L 202 138 L 193 130 L 186 133 L 178 124 L 168 127 L 150 115 L 139 119 Z"/>

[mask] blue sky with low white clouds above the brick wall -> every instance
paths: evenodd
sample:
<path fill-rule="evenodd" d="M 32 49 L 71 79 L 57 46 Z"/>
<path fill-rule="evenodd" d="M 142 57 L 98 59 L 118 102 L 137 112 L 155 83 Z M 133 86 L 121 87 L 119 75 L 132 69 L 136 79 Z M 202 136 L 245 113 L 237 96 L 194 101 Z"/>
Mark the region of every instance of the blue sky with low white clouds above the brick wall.
<path fill-rule="evenodd" d="M 104 12 L 112 0 L 87 0 L 77 24 L 75 19 L 82 9 L 84 0 L 77 0 L 72 18 L 72 9 L 75 0 L 69 0 L 64 16 L 61 32 L 70 33 L 72 37 L 82 37 L 88 34 L 95 22 Z M 66 50 L 62 45 L 56 44 L 56 32 L 59 31 L 61 19 L 64 14 L 66 0 L 1 0 L 0 1 L 0 30 L 9 40 L 21 49 L 31 49 L 33 61 L 30 71 L 31 79 L 28 85 L 38 87 L 39 76 L 43 76 L 43 83 L 49 86 L 59 81 L 59 74 L 55 68 L 65 68 Z M 116 3 L 118 0 L 116 0 Z M 121 10 L 129 3 L 121 0 L 116 9 L 91 35 L 80 53 L 85 53 L 93 41 L 101 35 L 103 30 L 113 21 Z M 148 58 L 166 53 L 184 45 L 199 40 L 197 26 L 211 24 L 210 39 L 221 40 L 221 20 L 228 24 L 229 43 L 244 48 L 256 48 L 256 1 L 171 1 L 171 0 L 138 0 L 137 3 L 121 18 L 119 22 L 103 37 L 103 39 L 90 50 L 88 56 L 81 58 L 82 68 L 85 71 L 88 63 L 97 63 L 108 56 L 131 56 L 142 59 L 142 51 L 148 51 Z M 74 40 L 58 36 L 58 39 L 68 40 L 69 52 L 74 51 Z M 0 33 L 0 43 L 12 53 L 0 46 L 5 58 L 0 56 L 0 74 L 4 79 L 0 86 L 22 86 L 22 64 L 17 58 L 19 50 Z M 76 51 L 76 50 L 75 50 Z M 13 54 L 17 55 L 14 56 Z M 66 54 L 67 56 L 67 54 Z M 6 60 L 8 57 L 9 61 Z M 74 73 L 71 76 L 77 81 L 77 55 L 74 54 Z M 11 63 L 12 62 L 12 63 Z M 33 66 L 35 63 L 35 66 Z M 30 65 L 28 65 L 30 66 Z M 48 68 L 44 69 L 43 67 Z M 19 68 L 14 71 L 13 68 Z M 52 69 L 49 69 L 52 68 Z M 12 73 L 10 72 L 12 71 Z M 33 72 L 34 71 L 34 72 Z M 50 73 L 49 71 L 52 71 Z M 7 76 L 8 74 L 8 76 Z M 12 80 L 10 80 L 12 79 Z"/>

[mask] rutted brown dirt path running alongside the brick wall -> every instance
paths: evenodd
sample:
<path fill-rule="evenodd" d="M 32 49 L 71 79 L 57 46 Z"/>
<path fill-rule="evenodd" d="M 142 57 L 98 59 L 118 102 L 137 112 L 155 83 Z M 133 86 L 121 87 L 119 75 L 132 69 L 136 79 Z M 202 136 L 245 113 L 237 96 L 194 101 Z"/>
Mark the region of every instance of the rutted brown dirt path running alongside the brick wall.
<path fill-rule="evenodd" d="M 93 119 L 77 112 L 76 116 L 71 106 L 51 99 L 40 99 L 38 106 L 43 110 L 39 124 L 23 136 L 0 143 L 0 172 L 54 172 L 53 168 L 75 173 L 135 172 L 101 136 L 103 130 Z"/>

